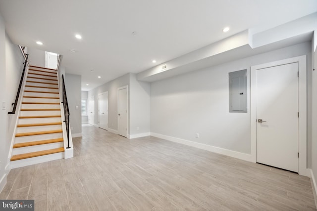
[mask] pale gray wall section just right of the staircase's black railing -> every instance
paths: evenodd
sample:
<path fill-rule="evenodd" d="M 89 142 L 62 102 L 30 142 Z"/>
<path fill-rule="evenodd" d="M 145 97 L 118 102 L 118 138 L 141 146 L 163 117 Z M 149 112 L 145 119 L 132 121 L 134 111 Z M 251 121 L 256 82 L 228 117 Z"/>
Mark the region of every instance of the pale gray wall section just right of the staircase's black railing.
<path fill-rule="evenodd" d="M 72 137 L 81 136 L 81 76 L 66 74 L 64 79 Z"/>

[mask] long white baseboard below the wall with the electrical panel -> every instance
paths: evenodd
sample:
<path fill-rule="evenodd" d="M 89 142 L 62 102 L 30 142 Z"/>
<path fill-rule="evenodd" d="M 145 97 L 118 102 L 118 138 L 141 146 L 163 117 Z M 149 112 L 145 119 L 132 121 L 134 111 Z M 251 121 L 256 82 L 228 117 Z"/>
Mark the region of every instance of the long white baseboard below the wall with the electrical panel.
<path fill-rule="evenodd" d="M 202 144 L 202 143 L 198 143 L 198 142 L 194 142 L 194 141 L 189 141 L 189 140 L 185 140 L 185 139 L 181 139 L 181 138 L 175 138 L 175 137 L 171 137 L 171 136 L 167 136 L 167 135 L 162 135 L 162 134 L 155 133 L 155 132 L 151 132 L 151 136 L 162 138 L 162 139 L 165 139 L 165 140 L 168 140 L 168 141 L 172 141 L 172 142 L 176 142 L 176 143 L 185 144 L 185 145 L 196 147 L 196 148 L 199 148 L 199 149 L 204 149 L 204 150 L 207 150 L 207 151 L 210 151 L 210 152 L 214 152 L 214 153 L 218 153 L 218 154 L 221 154 L 221 155 L 230 156 L 230 157 L 241 159 L 241 160 L 244 160 L 244 161 L 251 161 L 251 155 L 250 154 L 245 154 L 245 153 L 242 153 L 242 152 L 237 152 L 237 151 L 232 151 L 232 150 L 228 150 L 228 149 L 223 149 L 223 148 L 220 148 L 220 147 L 215 147 L 215 146 Z"/>

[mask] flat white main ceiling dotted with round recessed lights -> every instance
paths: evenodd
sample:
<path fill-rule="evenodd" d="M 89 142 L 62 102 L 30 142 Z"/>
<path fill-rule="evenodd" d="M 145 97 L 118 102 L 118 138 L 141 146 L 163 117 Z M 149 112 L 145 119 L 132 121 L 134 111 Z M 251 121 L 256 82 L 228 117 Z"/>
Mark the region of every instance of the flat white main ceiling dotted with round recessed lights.
<path fill-rule="evenodd" d="M 66 73 L 82 76 L 82 90 L 316 11 L 317 0 L 0 0 L 12 42 L 62 54 Z"/>

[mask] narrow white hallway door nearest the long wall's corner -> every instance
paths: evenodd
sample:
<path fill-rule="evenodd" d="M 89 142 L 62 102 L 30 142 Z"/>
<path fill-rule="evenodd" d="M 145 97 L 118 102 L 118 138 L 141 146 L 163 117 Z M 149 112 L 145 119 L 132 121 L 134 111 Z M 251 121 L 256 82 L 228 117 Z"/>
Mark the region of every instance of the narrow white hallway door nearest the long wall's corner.
<path fill-rule="evenodd" d="M 118 134 L 128 137 L 128 89 L 118 88 Z"/>

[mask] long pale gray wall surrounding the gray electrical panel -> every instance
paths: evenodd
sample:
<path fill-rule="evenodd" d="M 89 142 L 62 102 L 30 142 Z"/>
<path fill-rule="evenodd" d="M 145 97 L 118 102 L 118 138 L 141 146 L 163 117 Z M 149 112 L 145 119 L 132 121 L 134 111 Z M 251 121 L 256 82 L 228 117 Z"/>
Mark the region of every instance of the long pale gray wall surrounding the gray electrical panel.
<path fill-rule="evenodd" d="M 304 54 L 310 67 L 306 42 L 152 83 L 151 133 L 250 154 L 250 77 L 248 113 L 229 113 L 228 73 Z"/>

